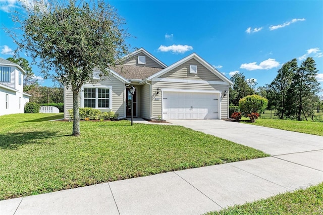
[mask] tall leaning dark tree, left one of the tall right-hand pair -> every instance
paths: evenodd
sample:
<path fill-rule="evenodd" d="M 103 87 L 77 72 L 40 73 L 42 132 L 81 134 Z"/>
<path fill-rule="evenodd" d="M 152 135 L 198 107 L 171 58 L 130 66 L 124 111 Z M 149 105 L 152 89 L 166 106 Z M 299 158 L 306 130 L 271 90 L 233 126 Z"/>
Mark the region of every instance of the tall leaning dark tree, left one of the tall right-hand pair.
<path fill-rule="evenodd" d="M 282 68 L 278 70 L 276 78 L 268 86 L 268 106 L 272 109 L 276 109 L 276 114 L 280 116 L 280 119 L 284 119 L 284 116 L 288 109 L 286 100 L 290 99 L 290 94 L 288 94 L 287 91 L 291 87 L 294 72 L 297 69 L 298 67 L 296 59 L 285 63 Z"/>

